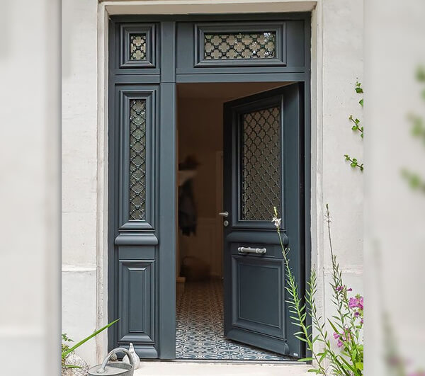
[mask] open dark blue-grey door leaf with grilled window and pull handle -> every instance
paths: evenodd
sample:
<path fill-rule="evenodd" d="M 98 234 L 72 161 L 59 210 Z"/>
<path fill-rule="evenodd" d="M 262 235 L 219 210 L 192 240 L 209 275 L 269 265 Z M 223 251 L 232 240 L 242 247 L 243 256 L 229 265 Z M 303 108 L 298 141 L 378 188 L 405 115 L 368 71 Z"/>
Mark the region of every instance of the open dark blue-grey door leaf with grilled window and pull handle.
<path fill-rule="evenodd" d="M 225 336 L 300 357 L 285 303 L 281 232 L 302 287 L 302 93 L 299 84 L 225 103 Z"/>

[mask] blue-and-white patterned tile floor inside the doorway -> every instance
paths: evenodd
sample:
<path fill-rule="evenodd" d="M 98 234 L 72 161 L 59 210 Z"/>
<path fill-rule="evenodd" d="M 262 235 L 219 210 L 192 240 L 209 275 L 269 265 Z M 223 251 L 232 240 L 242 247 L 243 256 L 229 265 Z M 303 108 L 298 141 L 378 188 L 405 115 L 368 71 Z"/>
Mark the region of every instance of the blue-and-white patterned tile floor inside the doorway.
<path fill-rule="evenodd" d="M 223 336 L 221 280 L 177 285 L 176 359 L 292 360 Z"/>

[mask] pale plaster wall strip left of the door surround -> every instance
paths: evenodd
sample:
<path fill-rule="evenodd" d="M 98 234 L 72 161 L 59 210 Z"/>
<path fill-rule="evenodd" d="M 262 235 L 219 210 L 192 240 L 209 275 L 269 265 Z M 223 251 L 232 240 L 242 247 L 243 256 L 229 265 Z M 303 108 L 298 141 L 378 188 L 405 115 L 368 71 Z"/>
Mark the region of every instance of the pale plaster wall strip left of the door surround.
<path fill-rule="evenodd" d="M 96 328 L 97 1 L 62 1 L 62 332 Z M 77 350 L 95 363 L 96 342 Z"/>

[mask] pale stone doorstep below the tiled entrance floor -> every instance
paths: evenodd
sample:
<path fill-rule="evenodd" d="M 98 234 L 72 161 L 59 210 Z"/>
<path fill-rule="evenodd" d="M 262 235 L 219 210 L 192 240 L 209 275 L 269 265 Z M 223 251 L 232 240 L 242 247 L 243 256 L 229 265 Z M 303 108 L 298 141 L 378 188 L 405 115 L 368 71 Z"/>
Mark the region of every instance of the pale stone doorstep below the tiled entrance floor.
<path fill-rule="evenodd" d="M 306 376 L 311 368 L 305 364 L 247 364 L 247 363 L 200 363 L 200 362 L 141 362 L 134 376 Z"/>

